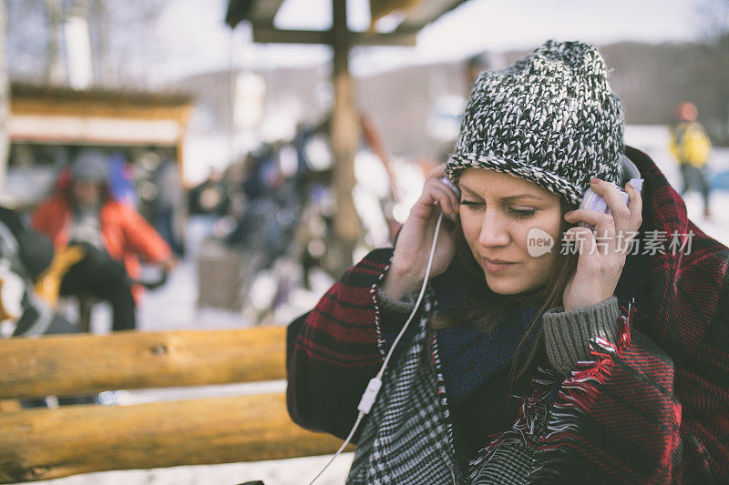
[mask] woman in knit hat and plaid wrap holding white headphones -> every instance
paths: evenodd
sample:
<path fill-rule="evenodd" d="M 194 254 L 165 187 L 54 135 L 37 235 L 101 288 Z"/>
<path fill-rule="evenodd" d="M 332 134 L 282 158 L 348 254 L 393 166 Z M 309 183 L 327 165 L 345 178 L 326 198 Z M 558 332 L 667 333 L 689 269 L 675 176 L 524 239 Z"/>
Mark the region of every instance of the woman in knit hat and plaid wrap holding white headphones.
<path fill-rule="evenodd" d="M 344 438 L 413 308 L 439 209 L 454 217 L 348 482 L 729 481 L 729 250 L 623 146 L 623 125 L 590 45 L 549 41 L 478 77 L 394 250 L 288 330 L 293 419 Z M 627 206 L 623 153 L 644 179 Z M 577 209 L 588 188 L 611 216 Z"/>

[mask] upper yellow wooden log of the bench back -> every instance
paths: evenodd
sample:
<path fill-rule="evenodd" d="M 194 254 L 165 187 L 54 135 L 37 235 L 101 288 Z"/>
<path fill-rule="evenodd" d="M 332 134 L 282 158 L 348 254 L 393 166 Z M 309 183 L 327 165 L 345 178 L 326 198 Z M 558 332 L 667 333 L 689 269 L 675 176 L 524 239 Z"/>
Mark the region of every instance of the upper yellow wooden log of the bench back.
<path fill-rule="evenodd" d="M 0 399 L 285 379 L 284 327 L 0 339 Z"/>

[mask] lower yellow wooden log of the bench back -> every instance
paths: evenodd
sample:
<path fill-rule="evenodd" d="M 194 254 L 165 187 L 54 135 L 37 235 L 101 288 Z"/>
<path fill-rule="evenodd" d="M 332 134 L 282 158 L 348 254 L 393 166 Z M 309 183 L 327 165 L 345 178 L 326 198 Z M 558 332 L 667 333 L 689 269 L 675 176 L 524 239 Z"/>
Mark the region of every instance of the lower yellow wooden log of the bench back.
<path fill-rule="evenodd" d="M 0 483 L 315 456 L 341 444 L 294 424 L 282 394 L 7 412 L 0 413 Z M 312 478 L 294 474 L 292 483 Z"/>

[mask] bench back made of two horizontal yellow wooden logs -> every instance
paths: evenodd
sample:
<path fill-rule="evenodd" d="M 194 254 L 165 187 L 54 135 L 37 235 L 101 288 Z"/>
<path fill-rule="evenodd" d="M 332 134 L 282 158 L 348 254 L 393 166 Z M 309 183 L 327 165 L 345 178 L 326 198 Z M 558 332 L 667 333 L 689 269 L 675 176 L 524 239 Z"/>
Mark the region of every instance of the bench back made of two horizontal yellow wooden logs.
<path fill-rule="evenodd" d="M 282 379 L 284 332 L 250 328 L 0 340 L 0 399 Z M 0 412 L 0 483 L 315 456 L 341 445 L 295 425 L 282 394 L 6 409 Z"/>

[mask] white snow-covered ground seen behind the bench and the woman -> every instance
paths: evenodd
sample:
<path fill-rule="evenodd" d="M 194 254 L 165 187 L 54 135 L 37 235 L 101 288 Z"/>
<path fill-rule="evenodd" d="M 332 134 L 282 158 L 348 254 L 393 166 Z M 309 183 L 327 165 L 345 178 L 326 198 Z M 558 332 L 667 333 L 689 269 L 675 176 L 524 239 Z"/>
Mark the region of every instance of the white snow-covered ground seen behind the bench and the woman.
<path fill-rule="evenodd" d="M 673 187 L 680 187 L 678 167 L 669 155 L 668 132 L 664 126 L 629 126 L 626 137 L 628 143 L 653 157 Z M 711 161 L 714 172 L 729 169 L 729 149 L 717 149 Z M 703 205 L 699 194 L 689 193 L 685 197 L 689 217 L 709 236 L 729 244 L 729 192 L 715 191 L 712 195 L 714 217 L 711 220 L 702 217 Z M 190 257 L 169 278 L 168 284 L 156 291 L 149 292 L 139 312 L 139 327 L 147 331 L 171 330 L 182 328 L 241 328 L 252 325 L 250 318 L 227 311 L 196 308 L 196 268 L 194 264 L 195 241 L 203 236 L 204 226 L 193 223 L 188 235 Z M 307 308 L 311 308 L 326 289 L 326 281 L 311 292 L 299 291 L 292 307 L 285 308 L 281 323 L 286 323 L 289 316 L 295 316 Z M 96 332 L 108 330 L 108 308 L 98 306 L 94 314 Z M 208 396 L 241 395 L 255 392 L 282 391 L 283 381 L 257 384 L 214 386 L 198 389 L 146 389 L 120 391 L 119 404 L 136 404 L 155 400 L 195 399 Z M 340 484 L 352 462 L 353 455 L 345 454 L 334 461 L 332 467 L 317 483 Z M 228 465 L 176 467 L 158 470 L 109 471 L 78 475 L 66 479 L 45 480 L 36 483 L 54 485 L 227 485 L 248 480 L 263 480 L 266 485 L 308 483 L 309 480 L 326 463 L 328 457 L 313 457 L 293 460 L 272 460 L 254 463 L 236 463 Z"/>

